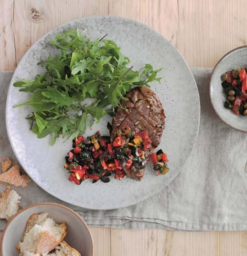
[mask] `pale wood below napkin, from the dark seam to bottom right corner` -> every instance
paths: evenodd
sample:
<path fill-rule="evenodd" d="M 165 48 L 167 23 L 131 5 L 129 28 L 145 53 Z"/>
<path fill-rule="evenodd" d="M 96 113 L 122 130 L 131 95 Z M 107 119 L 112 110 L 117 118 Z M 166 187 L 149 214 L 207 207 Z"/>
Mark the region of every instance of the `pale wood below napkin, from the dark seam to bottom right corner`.
<path fill-rule="evenodd" d="M 244 256 L 247 232 L 111 229 L 111 256 Z"/>

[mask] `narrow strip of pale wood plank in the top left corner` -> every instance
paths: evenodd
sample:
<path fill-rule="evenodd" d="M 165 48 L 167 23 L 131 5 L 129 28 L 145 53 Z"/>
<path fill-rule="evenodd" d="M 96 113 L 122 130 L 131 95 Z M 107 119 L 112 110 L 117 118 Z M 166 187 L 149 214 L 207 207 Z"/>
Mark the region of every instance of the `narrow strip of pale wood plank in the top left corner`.
<path fill-rule="evenodd" d="M 13 0 L 0 2 L 0 70 L 16 67 L 13 33 Z"/>

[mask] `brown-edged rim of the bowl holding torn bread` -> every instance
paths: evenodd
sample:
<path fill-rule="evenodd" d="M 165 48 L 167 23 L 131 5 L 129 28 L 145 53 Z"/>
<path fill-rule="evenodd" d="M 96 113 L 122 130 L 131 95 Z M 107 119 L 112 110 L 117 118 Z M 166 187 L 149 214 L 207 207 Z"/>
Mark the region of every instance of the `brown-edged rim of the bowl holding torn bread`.
<path fill-rule="evenodd" d="M 84 221 L 84 219 L 79 216 L 79 214 L 77 212 L 75 212 L 74 210 L 72 210 L 71 208 L 65 206 L 65 205 L 62 205 L 60 203 L 49 203 L 49 202 L 44 202 L 44 203 L 34 203 L 34 204 L 31 204 L 23 209 L 21 209 L 20 211 L 18 211 L 15 215 L 13 215 L 7 225 L 5 226 L 2 234 L 1 234 L 1 238 L 0 238 L 0 256 L 4 256 L 4 253 L 3 253 L 3 242 L 4 242 L 4 235 L 5 235 L 5 232 L 7 231 L 9 225 L 11 224 L 11 222 L 13 221 L 13 219 L 18 216 L 20 213 L 26 211 L 27 209 L 29 208 L 32 208 L 32 207 L 36 207 L 36 206 L 40 206 L 40 205 L 52 205 L 52 206 L 56 206 L 56 207 L 61 207 L 61 208 L 64 208 L 66 209 L 67 211 L 73 213 L 83 224 L 84 226 L 86 227 L 87 231 L 88 231 L 88 234 L 89 234 L 89 237 L 90 237 L 90 240 L 91 240 L 91 256 L 94 256 L 94 242 L 93 242 L 93 235 L 87 225 L 87 223 Z"/>

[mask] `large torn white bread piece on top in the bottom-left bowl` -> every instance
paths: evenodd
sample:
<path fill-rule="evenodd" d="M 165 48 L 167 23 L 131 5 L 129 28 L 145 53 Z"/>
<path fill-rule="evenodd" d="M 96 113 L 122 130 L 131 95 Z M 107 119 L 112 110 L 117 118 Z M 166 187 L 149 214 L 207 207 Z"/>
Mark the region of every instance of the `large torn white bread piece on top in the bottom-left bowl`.
<path fill-rule="evenodd" d="M 19 256 L 47 255 L 67 234 L 65 222 L 57 224 L 48 213 L 33 214 L 26 223 L 21 242 L 16 248 Z"/>

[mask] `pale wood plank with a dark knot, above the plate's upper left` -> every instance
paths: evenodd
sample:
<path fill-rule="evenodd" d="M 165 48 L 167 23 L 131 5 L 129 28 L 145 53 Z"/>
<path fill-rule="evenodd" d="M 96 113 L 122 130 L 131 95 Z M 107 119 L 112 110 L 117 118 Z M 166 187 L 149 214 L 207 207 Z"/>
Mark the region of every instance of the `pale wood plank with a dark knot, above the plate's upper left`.
<path fill-rule="evenodd" d="M 76 18 L 108 13 L 107 0 L 18 0 L 14 4 L 17 63 L 42 35 Z"/>

